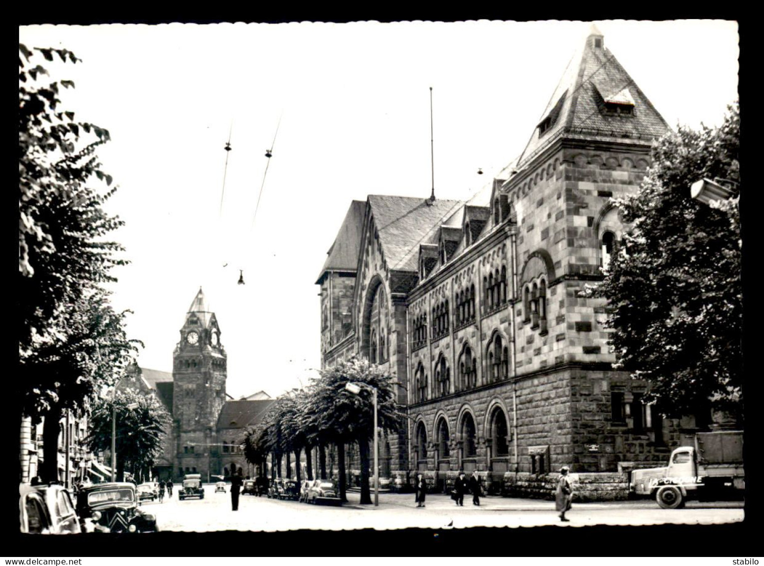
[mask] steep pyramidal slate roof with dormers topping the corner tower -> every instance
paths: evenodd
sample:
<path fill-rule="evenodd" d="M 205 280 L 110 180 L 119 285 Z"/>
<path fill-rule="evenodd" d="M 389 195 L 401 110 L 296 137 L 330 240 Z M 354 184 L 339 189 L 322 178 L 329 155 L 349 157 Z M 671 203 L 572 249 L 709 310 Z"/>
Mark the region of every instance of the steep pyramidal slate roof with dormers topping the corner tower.
<path fill-rule="evenodd" d="M 633 112 L 629 115 L 603 112 L 604 102 L 633 107 Z M 669 125 L 629 73 L 604 47 L 604 36 L 592 25 L 544 108 L 518 166 L 528 163 L 560 135 L 627 138 L 631 143 L 650 144 L 668 129 Z"/>

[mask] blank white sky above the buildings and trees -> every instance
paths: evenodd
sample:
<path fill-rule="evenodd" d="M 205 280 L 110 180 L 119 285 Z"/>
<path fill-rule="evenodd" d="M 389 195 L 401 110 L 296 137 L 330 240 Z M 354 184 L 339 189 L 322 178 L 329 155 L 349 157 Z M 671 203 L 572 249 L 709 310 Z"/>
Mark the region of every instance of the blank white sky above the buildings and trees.
<path fill-rule="evenodd" d="M 19 40 L 83 60 L 33 62 L 72 79 L 62 107 L 112 135 L 99 157 L 119 186 L 108 209 L 127 223 L 113 238 L 131 260 L 114 271 L 112 302 L 134 311 L 128 334 L 146 344 L 139 364 L 172 370 L 202 286 L 228 353 L 228 393 L 238 398 L 275 397 L 320 367 L 314 283 L 351 199 L 429 196 L 429 87 L 435 196 L 468 199 L 523 150 L 588 27 L 35 25 L 20 27 Z M 737 95 L 734 22 L 597 27 L 669 125 L 720 125 Z"/>

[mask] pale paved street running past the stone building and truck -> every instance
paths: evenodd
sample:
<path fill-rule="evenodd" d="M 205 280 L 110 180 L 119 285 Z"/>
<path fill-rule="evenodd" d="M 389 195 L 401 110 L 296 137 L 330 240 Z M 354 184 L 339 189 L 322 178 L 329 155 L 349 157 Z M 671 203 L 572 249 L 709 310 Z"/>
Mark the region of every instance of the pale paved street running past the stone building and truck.
<path fill-rule="evenodd" d="M 686 509 L 660 509 L 653 501 L 574 503 L 568 523 L 561 523 L 554 502 L 490 496 L 481 506 L 465 497 L 457 507 L 448 496 L 428 495 L 426 507 L 417 509 L 413 494 L 383 493 L 380 506 L 359 505 L 360 495 L 348 493 L 342 507 L 312 506 L 296 501 L 241 496 L 239 510 L 231 511 L 230 493 L 205 488 L 203 500 L 144 503 L 156 513 L 160 530 L 206 532 L 223 530 L 282 531 L 289 529 L 455 529 L 471 526 L 543 525 L 659 525 L 712 524 L 743 520 L 743 502 L 688 503 Z"/>

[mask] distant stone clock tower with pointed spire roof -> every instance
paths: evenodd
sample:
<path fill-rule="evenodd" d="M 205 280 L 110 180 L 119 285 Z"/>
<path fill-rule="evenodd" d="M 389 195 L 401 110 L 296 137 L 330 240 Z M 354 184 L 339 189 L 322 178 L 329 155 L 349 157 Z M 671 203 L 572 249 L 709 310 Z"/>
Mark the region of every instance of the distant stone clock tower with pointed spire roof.
<path fill-rule="evenodd" d="M 206 481 L 208 474 L 220 473 L 215 427 L 225 403 L 225 378 L 220 328 L 199 287 L 173 352 L 173 477 L 196 473 Z"/>

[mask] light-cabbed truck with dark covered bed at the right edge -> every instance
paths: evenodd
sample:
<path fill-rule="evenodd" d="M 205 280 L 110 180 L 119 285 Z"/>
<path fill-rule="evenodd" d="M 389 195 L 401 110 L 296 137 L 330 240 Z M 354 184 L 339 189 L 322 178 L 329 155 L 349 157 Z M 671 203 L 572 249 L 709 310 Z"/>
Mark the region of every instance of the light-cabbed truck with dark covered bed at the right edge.
<path fill-rule="evenodd" d="M 672 451 L 668 465 L 634 470 L 630 480 L 634 495 L 654 497 L 663 509 L 740 496 L 745 488 L 742 431 L 698 432 L 694 445 Z"/>

